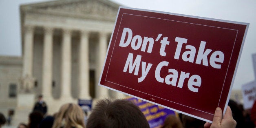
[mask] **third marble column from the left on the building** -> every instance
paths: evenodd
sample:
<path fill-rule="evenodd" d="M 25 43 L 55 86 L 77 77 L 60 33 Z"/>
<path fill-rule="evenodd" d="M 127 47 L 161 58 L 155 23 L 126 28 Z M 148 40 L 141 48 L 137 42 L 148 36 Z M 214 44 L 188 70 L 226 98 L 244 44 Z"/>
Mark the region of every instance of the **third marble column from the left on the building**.
<path fill-rule="evenodd" d="M 71 30 L 64 29 L 62 33 L 61 60 L 61 98 L 71 97 Z"/>

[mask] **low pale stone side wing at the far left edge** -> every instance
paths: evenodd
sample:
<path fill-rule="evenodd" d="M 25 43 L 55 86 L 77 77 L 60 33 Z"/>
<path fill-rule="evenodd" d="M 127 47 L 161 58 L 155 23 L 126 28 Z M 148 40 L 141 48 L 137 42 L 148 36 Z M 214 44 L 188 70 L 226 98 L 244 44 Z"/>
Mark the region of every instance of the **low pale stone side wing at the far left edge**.
<path fill-rule="evenodd" d="M 21 57 L 0 56 L 0 112 L 4 115 L 17 106 L 21 74 Z"/>

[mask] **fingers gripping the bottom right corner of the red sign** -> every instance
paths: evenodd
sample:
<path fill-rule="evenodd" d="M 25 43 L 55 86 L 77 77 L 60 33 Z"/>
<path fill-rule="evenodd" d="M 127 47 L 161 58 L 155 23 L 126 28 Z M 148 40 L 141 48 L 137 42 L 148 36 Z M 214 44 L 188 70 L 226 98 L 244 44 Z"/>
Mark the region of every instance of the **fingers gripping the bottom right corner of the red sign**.
<path fill-rule="evenodd" d="M 205 128 L 236 128 L 236 120 L 232 117 L 232 110 L 230 106 L 227 106 L 225 115 L 223 115 L 221 108 L 216 108 L 212 124 L 206 122 Z"/>

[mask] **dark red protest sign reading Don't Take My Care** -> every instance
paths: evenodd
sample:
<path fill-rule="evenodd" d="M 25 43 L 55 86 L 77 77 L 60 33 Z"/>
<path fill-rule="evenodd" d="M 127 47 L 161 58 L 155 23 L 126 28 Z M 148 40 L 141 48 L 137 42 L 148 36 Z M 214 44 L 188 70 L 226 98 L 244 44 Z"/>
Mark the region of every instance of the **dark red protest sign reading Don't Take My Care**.
<path fill-rule="evenodd" d="M 211 122 L 227 106 L 248 26 L 120 7 L 99 85 Z"/>

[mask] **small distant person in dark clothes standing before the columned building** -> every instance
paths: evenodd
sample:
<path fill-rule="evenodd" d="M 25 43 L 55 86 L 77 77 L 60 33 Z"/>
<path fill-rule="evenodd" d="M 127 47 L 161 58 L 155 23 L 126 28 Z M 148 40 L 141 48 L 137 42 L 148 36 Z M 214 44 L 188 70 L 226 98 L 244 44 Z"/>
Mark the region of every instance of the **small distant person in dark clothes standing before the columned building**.
<path fill-rule="evenodd" d="M 38 96 L 38 102 L 35 103 L 33 111 L 38 111 L 43 115 L 47 113 L 47 105 L 43 100 L 43 95 Z"/>

